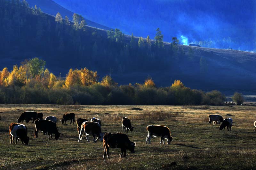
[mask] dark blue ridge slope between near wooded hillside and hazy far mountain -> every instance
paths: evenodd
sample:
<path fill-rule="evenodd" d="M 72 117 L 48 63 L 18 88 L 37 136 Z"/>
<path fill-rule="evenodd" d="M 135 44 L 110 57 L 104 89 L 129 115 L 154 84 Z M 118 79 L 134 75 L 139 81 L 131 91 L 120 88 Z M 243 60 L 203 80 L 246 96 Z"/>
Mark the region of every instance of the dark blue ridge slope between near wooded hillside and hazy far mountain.
<path fill-rule="evenodd" d="M 67 15 L 69 20 L 72 20 L 72 17 L 74 14 L 74 12 L 71 12 L 63 8 L 62 6 L 60 6 L 59 4 L 55 3 L 52 0 L 27 0 L 27 2 L 30 7 L 34 8 L 34 6 L 36 5 L 37 7 L 41 8 L 41 10 L 44 11 L 45 13 L 53 16 L 56 16 L 57 12 L 60 12 L 63 18 L 65 18 L 65 16 Z M 85 21 L 88 26 L 92 26 L 92 27 L 96 27 L 104 30 L 110 30 L 109 27 L 100 25 L 86 18 L 85 18 Z"/>

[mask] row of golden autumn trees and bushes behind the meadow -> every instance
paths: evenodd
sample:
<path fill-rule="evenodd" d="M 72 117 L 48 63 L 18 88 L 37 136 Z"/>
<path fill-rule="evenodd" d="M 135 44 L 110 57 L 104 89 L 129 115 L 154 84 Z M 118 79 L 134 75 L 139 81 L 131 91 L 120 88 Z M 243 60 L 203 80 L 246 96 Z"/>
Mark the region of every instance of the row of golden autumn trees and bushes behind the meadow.
<path fill-rule="evenodd" d="M 109 75 L 100 81 L 97 71 L 87 68 L 70 69 L 61 78 L 45 65 L 36 57 L 0 71 L 0 103 L 221 105 L 225 100 L 219 91 L 190 89 L 180 80 L 169 87 L 157 87 L 150 77 L 144 84 L 118 85 Z"/>

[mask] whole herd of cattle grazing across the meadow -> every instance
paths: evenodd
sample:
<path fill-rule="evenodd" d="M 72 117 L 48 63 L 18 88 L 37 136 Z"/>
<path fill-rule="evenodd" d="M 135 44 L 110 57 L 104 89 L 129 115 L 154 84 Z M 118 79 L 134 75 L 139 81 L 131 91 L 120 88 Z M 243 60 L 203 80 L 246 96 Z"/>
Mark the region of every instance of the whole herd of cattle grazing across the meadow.
<path fill-rule="evenodd" d="M 1 119 L 1 116 L 0 116 Z M 38 138 L 38 131 L 42 131 L 43 134 L 48 133 L 48 139 L 52 138 L 52 134 L 54 134 L 55 140 L 58 140 L 61 133 L 59 133 L 56 123 L 57 118 L 55 116 L 47 116 L 43 119 L 42 113 L 37 113 L 33 111 L 26 111 L 21 113 L 20 117 L 17 119 L 17 123 L 11 123 L 9 127 L 10 132 L 10 143 L 17 144 L 17 141 L 20 140 L 22 144 L 28 144 L 29 137 L 28 129 L 25 125 L 21 124 L 25 120 L 28 123 L 32 120 L 35 123 L 35 133 L 34 137 Z M 66 122 L 70 120 L 70 124 L 73 121 L 75 123 L 75 114 L 74 113 L 65 113 L 60 119 L 62 124 L 66 124 Z M 33 123 L 32 122 L 32 123 Z M 220 124 L 220 130 L 224 130 L 227 127 L 228 131 L 232 128 L 233 120 L 231 118 L 223 119 L 221 115 L 209 115 L 209 125 L 210 124 Z M 88 136 L 92 135 L 93 142 L 96 142 L 98 139 L 103 141 L 104 147 L 104 156 L 106 154 L 109 158 L 109 147 L 110 148 L 120 148 L 121 149 L 121 157 L 126 156 L 126 150 L 130 150 L 131 153 L 134 153 L 134 147 L 136 146 L 136 142 L 131 142 L 128 136 L 124 133 L 102 133 L 101 131 L 101 121 L 98 118 L 93 117 L 90 121 L 84 118 L 78 118 L 76 120 L 77 131 L 79 135 L 78 142 L 82 140 L 82 136 L 85 135 L 87 142 L 89 143 Z M 256 121 L 254 122 L 256 131 Z M 133 127 L 131 125 L 131 121 L 127 117 L 122 118 L 122 128 L 123 131 L 130 132 L 133 131 Z M 146 138 L 146 144 L 150 144 L 151 137 L 161 137 L 160 144 L 164 144 L 164 140 L 166 140 L 167 144 L 172 142 L 171 131 L 166 126 L 160 125 L 148 125 L 147 126 L 148 136 Z"/>

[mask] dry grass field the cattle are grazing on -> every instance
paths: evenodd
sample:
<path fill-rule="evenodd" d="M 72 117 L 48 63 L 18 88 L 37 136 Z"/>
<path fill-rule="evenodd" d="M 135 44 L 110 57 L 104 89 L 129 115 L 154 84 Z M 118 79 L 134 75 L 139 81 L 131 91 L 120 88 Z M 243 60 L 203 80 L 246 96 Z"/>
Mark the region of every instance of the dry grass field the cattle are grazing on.
<path fill-rule="evenodd" d="M 139 107 L 143 111 L 131 110 Z M 37 111 L 61 118 L 72 112 L 78 117 L 102 121 L 103 132 L 122 132 L 121 119 L 129 117 L 133 132 L 126 133 L 137 142 L 135 153 L 127 152 L 120 159 L 120 149 L 109 150 L 110 159 L 102 159 L 103 144 L 78 143 L 76 124 L 57 128 L 64 136 L 48 140 L 38 133 L 34 138 L 34 123 L 28 127 L 29 144 L 10 144 L 9 125 L 23 111 Z M 256 120 L 253 106 L 62 106 L 37 104 L 0 105 L 0 169 L 255 169 Z M 108 113 L 108 114 L 105 114 Z M 208 115 L 233 116 L 232 131 L 220 131 L 219 125 L 208 125 Z M 146 127 L 150 124 L 168 126 L 172 132 L 171 145 L 160 145 L 160 138 L 146 145 Z"/>

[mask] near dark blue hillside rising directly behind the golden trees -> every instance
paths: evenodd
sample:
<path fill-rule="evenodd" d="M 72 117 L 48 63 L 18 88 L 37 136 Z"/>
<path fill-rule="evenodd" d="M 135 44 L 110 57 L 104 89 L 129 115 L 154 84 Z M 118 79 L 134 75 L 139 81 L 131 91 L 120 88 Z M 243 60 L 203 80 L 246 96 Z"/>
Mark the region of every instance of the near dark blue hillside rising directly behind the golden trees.
<path fill-rule="evenodd" d="M 255 53 L 176 47 L 167 42 L 157 48 L 155 41 L 149 45 L 146 39 L 139 47 L 139 37 L 118 30 L 109 37 L 102 29 L 76 29 L 73 23 L 57 23 L 54 17 L 22 4 L 13 9 L 5 0 L 0 3 L 0 38 L 5 40 L 0 42 L 1 70 L 12 70 L 14 64 L 37 56 L 62 77 L 70 68 L 87 67 L 98 71 L 100 77 L 111 74 L 119 85 L 143 83 L 149 75 L 157 86 L 170 86 L 181 79 L 186 86 L 205 91 L 218 89 L 232 94 L 255 90 Z"/>

